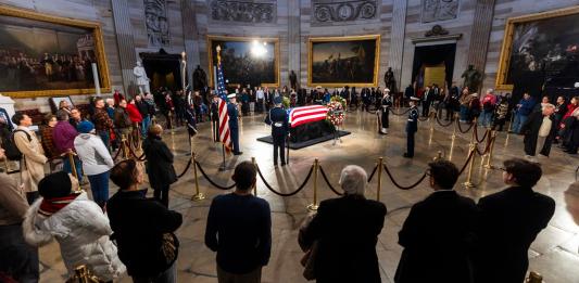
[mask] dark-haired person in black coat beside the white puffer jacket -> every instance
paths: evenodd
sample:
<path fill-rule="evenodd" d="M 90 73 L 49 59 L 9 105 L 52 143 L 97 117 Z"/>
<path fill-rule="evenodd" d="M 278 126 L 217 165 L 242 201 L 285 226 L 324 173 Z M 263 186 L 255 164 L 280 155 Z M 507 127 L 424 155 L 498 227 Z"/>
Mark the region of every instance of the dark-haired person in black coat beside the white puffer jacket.
<path fill-rule="evenodd" d="M 118 257 L 134 282 L 174 283 L 178 253 L 174 232 L 181 226 L 182 217 L 146 198 L 143 190 L 139 190 L 143 178 L 141 167 L 134 159 L 122 160 L 111 170 L 111 181 L 119 188 L 108 205 Z M 171 246 L 171 239 L 174 248 L 167 250 L 164 247 Z"/>

